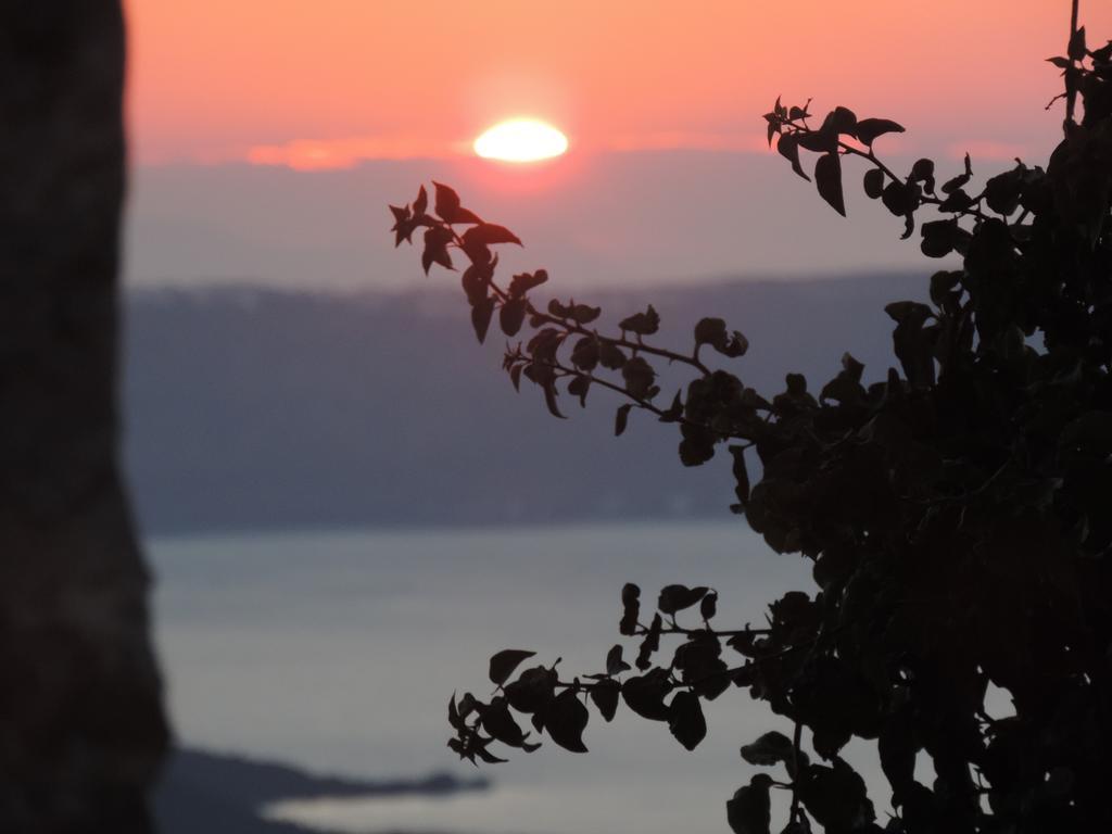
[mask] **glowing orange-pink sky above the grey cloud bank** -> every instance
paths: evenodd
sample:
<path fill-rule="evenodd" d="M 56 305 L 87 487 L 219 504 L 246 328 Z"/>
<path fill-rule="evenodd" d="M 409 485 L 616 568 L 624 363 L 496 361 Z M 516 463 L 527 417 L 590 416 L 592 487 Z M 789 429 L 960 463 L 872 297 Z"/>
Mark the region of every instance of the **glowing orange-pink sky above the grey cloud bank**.
<path fill-rule="evenodd" d="M 136 158 L 455 152 L 536 115 L 579 149 L 758 147 L 777 93 L 910 148 L 1042 151 L 1064 0 L 125 0 Z M 1083 0 L 1112 36 L 1112 3 Z M 954 146 L 954 148 L 951 148 Z M 1034 146 L 1034 147 L 1032 147 Z M 309 157 L 307 157 L 309 155 Z"/>

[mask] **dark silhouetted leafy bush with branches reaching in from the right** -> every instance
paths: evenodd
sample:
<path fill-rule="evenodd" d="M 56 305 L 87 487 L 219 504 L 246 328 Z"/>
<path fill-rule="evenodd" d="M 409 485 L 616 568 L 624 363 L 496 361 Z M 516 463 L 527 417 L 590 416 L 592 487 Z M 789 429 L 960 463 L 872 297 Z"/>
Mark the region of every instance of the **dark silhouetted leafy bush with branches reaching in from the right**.
<path fill-rule="evenodd" d="M 447 186 L 435 183 L 433 215 L 424 187 L 391 207 L 398 244 L 424 229 L 426 272 L 454 268 L 453 250 L 466 257 L 479 341 L 496 312 L 507 337 L 529 328 L 504 359 L 516 388 L 535 384 L 557 417 L 560 387 L 584 405 L 608 389 L 626 400 L 615 434 L 635 411 L 675 423 L 687 466 L 725 445 L 733 509 L 773 549 L 810 559 L 817 585 L 773 602 L 766 627 L 721 629 L 709 588 L 669 585 L 643 616 L 628 584 L 618 631 L 641 638 L 635 671 L 616 645 L 595 674 L 564 679 L 553 664 L 514 678 L 530 653 L 502 652 L 488 702 L 449 703 L 456 753 L 504 761 L 495 742 L 532 752 L 532 731 L 585 752 L 586 701 L 606 721 L 624 702 L 691 749 L 707 732 L 702 701 L 744 687 L 792 733 L 742 747 L 786 781 L 758 773 L 738 788 L 726 804 L 737 834 L 770 832 L 773 787 L 791 792 L 785 834 L 882 831 L 840 756 L 853 737 L 875 742 L 891 784 L 884 831 L 1112 831 L 1112 42 L 1090 50 L 1074 22 L 1068 54 L 1050 61 L 1065 78 L 1064 139 L 1045 169 L 1017 160 L 980 190 L 967 156 L 941 186 L 929 159 L 898 176 L 874 151 L 896 122 L 838 107 L 815 127 L 810 102 L 780 100 L 765 116 L 798 176 L 817 155 L 814 182 L 836 211 L 843 161 L 857 158 L 904 238 L 919 225 L 925 256 L 963 258 L 931 278 L 930 305 L 885 308 L 900 370 L 870 385 L 844 355 L 817 396 L 788 374 L 767 398 L 717 367 L 747 349 L 722 319 L 701 320 L 686 351 L 647 340 L 661 327 L 652 306 L 602 331 L 597 307 L 534 305 L 544 270 L 499 285 L 490 246 L 520 241 Z M 927 209 L 941 218 L 923 221 Z M 693 376 L 667 405 L 661 361 Z M 678 645 L 659 659 L 665 638 Z M 990 714 L 990 684 L 1013 715 Z M 930 786 L 915 777 L 922 751 Z"/>

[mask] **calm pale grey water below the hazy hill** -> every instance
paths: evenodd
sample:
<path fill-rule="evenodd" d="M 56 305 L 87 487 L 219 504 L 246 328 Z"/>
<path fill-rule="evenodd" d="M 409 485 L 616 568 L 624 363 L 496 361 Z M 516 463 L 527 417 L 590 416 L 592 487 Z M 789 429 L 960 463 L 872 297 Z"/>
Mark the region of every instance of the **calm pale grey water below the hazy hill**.
<path fill-rule="evenodd" d="M 810 587 L 806 563 L 731 522 L 221 536 L 149 552 L 179 736 L 368 777 L 466 772 L 445 747 L 451 692 L 487 694 L 487 658 L 500 648 L 562 656 L 567 674 L 598 671 L 618 641 L 625 582 L 646 600 L 672 582 L 716 587 L 723 624 L 758 622 L 776 595 Z M 496 784 L 484 794 L 272 811 L 348 832 L 721 832 L 726 798 L 752 773 L 738 745 L 785 727 L 739 691 L 708 705 L 707 719 L 707 739 L 688 753 L 624 707 L 612 725 L 593 713 L 589 754 L 515 751 L 487 767 Z"/>

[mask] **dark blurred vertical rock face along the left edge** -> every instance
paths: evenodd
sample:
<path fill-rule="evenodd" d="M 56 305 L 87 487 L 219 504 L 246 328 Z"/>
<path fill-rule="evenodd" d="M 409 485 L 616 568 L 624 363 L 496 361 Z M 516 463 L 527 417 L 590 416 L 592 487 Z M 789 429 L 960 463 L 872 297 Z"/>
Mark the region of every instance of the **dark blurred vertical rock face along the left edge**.
<path fill-rule="evenodd" d="M 168 729 L 117 464 L 118 0 L 0 4 L 0 831 L 147 832 Z"/>

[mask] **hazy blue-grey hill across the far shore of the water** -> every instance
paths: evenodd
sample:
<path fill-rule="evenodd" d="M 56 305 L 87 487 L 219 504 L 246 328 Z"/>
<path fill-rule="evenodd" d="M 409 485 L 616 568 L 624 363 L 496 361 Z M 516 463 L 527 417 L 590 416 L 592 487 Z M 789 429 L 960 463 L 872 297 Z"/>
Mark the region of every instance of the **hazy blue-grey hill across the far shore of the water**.
<path fill-rule="evenodd" d="M 925 285 L 923 275 L 873 275 L 587 300 L 610 321 L 652 301 L 661 342 L 676 346 L 701 316 L 722 316 L 752 345 L 735 366 L 742 378 L 776 393 L 786 371 L 825 381 L 845 350 L 883 377 L 883 306 L 921 298 Z M 505 340 L 492 331 L 479 347 L 457 294 L 133 291 L 127 458 L 146 529 L 728 513 L 725 458 L 685 469 L 675 427 L 635 413 L 615 439 L 618 400 L 605 391 L 586 411 L 560 397 L 568 420 L 550 418 L 532 385 L 515 394 L 499 368 Z"/>

